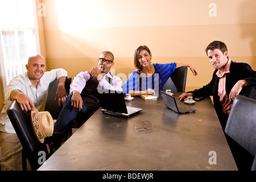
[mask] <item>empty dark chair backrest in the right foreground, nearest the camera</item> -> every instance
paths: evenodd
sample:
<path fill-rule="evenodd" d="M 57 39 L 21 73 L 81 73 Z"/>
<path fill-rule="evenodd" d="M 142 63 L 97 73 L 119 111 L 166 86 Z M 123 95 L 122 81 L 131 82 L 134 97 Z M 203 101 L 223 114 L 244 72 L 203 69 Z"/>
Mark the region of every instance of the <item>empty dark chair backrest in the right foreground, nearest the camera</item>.
<path fill-rule="evenodd" d="M 245 96 L 235 97 L 226 123 L 225 133 L 255 157 L 256 100 Z M 253 164 L 253 166 L 255 165 Z"/>

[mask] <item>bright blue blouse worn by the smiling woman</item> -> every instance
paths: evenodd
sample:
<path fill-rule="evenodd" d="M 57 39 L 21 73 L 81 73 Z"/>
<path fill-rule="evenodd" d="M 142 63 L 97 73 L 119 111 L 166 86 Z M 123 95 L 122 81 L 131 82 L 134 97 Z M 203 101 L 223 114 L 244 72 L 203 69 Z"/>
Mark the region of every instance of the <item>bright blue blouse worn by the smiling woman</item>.
<path fill-rule="evenodd" d="M 163 89 L 163 85 L 166 83 L 168 78 L 172 75 L 176 68 L 176 63 L 158 64 L 154 63 L 155 73 L 150 77 L 143 77 L 139 75 L 137 71 L 133 71 L 125 84 L 123 84 L 123 96 L 129 90 L 147 90 L 151 88 L 155 90 L 156 95 L 158 95 L 159 90 Z"/>

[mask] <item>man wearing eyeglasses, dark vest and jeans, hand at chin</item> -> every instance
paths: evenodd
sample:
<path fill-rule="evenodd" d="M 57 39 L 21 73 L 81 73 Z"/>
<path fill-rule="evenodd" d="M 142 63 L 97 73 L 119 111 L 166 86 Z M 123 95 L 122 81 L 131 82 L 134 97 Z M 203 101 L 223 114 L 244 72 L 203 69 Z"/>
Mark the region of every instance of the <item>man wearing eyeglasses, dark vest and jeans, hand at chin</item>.
<path fill-rule="evenodd" d="M 70 93 L 54 126 L 53 146 L 50 155 L 60 147 L 69 135 L 74 120 L 81 126 L 99 107 L 97 88 L 122 91 L 122 80 L 110 73 L 114 65 L 112 52 L 104 51 L 98 59 L 98 67 L 90 72 L 80 72 L 70 85 Z"/>

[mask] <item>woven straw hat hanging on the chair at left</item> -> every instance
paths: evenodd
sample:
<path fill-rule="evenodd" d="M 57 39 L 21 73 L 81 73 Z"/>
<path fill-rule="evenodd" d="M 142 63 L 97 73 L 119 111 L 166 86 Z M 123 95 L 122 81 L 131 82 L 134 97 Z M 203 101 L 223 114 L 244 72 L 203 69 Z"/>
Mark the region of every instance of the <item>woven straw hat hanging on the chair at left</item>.
<path fill-rule="evenodd" d="M 36 138 L 44 143 L 44 138 L 53 134 L 53 119 L 48 111 L 31 110 L 31 123 Z"/>

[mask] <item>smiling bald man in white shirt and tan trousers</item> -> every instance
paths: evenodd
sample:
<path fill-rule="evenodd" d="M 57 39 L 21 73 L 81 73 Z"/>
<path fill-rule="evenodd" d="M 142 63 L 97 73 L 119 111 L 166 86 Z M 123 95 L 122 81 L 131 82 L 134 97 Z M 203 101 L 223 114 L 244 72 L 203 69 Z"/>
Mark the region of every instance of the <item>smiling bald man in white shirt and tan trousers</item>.
<path fill-rule="evenodd" d="M 6 113 L 11 102 L 16 100 L 23 111 L 40 109 L 49 87 L 49 84 L 57 78 L 59 81 L 56 98 L 59 106 L 65 103 L 65 78 L 67 71 L 53 69 L 45 72 L 46 61 L 41 55 L 28 58 L 27 72 L 18 75 L 10 81 L 6 89 L 6 104 L 0 114 L 0 146 L 2 151 L 1 170 L 22 170 L 22 145 L 15 133 L 13 125 Z"/>

